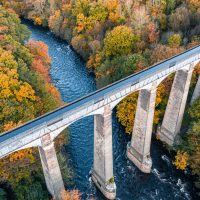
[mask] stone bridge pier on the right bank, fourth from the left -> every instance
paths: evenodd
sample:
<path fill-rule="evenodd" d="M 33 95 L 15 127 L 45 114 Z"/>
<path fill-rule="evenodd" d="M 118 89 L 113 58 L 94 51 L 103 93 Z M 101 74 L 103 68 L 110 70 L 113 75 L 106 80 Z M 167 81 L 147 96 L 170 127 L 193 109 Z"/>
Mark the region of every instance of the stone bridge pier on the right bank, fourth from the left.
<path fill-rule="evenodd" d="M 168 145 L 173 145 L 181 129 L 192 72 L 193 65 L 188 71 L 177 71 L 174 78 L 162 125 L 157 131 L 160 140 Z"/>

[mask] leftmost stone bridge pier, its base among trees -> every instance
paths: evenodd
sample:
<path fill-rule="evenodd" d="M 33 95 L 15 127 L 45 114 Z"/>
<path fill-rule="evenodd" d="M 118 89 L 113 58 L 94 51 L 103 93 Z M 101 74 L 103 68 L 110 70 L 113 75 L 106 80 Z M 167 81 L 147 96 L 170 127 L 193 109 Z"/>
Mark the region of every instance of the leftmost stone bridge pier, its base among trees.
<path fill-rule="evenodd" d="M 64 200 L 64 184 L 60 172 L 59 163 L 54 148 L 54 142 L 47 134 L 41 138 L 42 146 L 39 146 L 40 159 L 44 172 L 47 189 L 55 200 Z"/>

